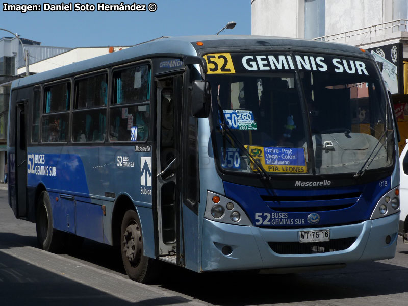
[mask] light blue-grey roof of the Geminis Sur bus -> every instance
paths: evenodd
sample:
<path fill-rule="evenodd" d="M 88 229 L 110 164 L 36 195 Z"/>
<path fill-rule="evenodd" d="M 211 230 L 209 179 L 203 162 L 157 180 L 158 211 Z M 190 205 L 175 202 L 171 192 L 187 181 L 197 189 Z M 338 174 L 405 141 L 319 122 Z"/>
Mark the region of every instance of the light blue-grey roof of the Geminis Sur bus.
<path fill-rule="evenodd" d="M 198 46 L 197 41 L 202 41 L 203 45 Z M 234 49 L 265 49 L 265 48 L 303 48 L 317 49 L 322 52 L 326 50 L 337 50 L 338 52 L 354 53 L 361 55 L 362 52 L 357 47 L 346 44 L 321 42 L 307 39 L 296 39 L 272 36 L 252 36 L 252 35 L 203 35 L 203 36 L 182 36 L 167 37 L 152 40 L 135 45 L 131 48 L 118 52 L 98 56 L 92 59 L 73 63 L 53 70 L 48 70 L 30 77 L 13 81 L 12 88 L 25 87 L 37 83 L 48 82 L 54 79 L 68 77 L 71 74 L 86 73 L 95 69 L 102 69 L 109 65 L 118 65 L 129 60 L 138 60 L 144 56 L 170 56 L 170 55 L 197 55 L 205 52 L 206 49 L 214 48 L 234 48 Z"/>

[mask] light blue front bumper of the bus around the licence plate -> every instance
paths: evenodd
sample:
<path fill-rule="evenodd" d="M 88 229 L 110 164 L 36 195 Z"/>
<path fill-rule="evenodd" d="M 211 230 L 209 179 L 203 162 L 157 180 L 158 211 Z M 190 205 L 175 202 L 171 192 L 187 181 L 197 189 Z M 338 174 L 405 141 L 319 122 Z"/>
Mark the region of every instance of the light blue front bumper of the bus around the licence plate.
<path fill-rule="evenodd" d="M 201 271 L 305 267 L 390 259 L 394 257 L 397 246 L 398 221 L 399 213 L 396 213 L 358 224 L 323 226 L 320 229 L 330 230 L 330 241 L 350 237 L 355 237 L 355 241 L 338 251 L 282 254 L 273 251 L 271 245 L 289 242 L 296 249 L 300 244 L 299 229 L 239 226 L 205 219 Z"/>

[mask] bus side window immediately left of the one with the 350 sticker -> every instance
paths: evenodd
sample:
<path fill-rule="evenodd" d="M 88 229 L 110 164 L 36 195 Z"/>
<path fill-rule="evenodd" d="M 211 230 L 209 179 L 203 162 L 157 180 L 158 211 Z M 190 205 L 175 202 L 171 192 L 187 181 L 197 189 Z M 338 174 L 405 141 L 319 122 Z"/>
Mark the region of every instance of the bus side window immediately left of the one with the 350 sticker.
<path fill-rule="evenodd" d="M 106 74 L 75 81 L 72 141 L 104 141 L 106 137 Z"/>

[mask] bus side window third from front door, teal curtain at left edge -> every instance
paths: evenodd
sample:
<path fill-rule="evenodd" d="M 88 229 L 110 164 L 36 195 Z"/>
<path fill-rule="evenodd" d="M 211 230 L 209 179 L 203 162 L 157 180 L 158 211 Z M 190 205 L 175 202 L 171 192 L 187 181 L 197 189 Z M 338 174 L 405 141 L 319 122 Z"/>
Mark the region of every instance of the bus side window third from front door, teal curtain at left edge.
<path fill-rule="evenodd" d="M 60 83 L 44 88 L 42 142 L 68 140 L 71 84 Z"/>

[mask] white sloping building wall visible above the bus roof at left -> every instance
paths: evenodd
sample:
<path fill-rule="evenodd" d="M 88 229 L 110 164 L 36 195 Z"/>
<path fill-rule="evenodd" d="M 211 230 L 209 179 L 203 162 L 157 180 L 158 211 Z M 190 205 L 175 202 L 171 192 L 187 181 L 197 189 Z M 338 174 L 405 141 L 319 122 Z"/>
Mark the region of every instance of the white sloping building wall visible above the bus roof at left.
<path fill-rule="evenodd" d="M 126 49 L 128 47 L 115 47 L 115 52 L 120 52 L 119 49 Z M 52 70 L 58 67 L 66 66 L 72 63 L 80 62 L 90 58 L 94 58 L 100 55 L 105 55 L 109 53 L 109 47 L 100 48 L 76 48 L 68 52 L 59 54 L 55 57 L 48 58 L 46 60 L 31 64 L 29 66 L 30 73 L 43 72 Z M 25 67 L 17 70 L 17 74 L 25 73 Z"/>

